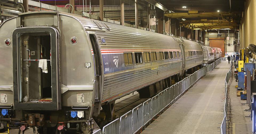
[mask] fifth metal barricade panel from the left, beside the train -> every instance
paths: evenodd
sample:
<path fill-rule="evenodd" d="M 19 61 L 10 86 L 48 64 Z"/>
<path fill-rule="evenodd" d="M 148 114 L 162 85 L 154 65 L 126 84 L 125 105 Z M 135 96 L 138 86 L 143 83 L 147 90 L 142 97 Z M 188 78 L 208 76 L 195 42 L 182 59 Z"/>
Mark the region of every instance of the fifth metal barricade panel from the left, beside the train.
<path fill-rule="evenodd" d="M 143 125 L 145 126 L 147 123 L 150 122 L 152 116 L 151 116 L 151 98 L 145 102 L 143 102 Z"/>

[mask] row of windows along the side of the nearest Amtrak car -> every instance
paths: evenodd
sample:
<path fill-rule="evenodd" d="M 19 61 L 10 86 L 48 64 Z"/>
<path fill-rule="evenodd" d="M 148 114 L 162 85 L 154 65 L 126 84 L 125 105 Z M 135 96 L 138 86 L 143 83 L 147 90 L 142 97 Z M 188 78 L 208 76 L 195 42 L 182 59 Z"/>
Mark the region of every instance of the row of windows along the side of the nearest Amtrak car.
<path fill-rule="evenodd" d="M 169 55 L 170 53 L 170 55 Z M 135 52 L 135 63 L 139 64 L 139 63 L 143 63 L 142 60 L 142 53 L 141 52 Z M 144 60 L 145 63 L 150 62 L 152 60 L 152 62 L 157 61 L 157 52 L 144 52 Z M 124 60 L 125 60 L 125 66 L 129 66 L 133 64 L 133 54 L 132 53 L 124 53 L 123 54 Z M 178 51 L 174 51 L 174 52 L 159 52 L 159 60 L 167 60 L 167 59 L 175 59 L 175 58 L 180 58 L 179 52 Z"/>

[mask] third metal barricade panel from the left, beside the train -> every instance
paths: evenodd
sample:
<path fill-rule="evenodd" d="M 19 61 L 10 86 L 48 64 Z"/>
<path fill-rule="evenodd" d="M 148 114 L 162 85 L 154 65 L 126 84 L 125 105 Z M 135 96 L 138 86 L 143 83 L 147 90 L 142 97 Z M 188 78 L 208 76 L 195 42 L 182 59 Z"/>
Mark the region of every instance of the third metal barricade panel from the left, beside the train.
<path fill-rule="evenodd" d="M 133 133 L 133 114 L 130 110 L 120 117 L 120 134 Z"/>

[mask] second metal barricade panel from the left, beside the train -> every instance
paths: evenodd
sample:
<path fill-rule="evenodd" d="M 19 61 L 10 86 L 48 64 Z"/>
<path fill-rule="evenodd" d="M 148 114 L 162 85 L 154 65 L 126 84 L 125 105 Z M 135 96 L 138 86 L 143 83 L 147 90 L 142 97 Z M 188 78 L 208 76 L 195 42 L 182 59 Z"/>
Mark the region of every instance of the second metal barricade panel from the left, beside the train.
<path fill-rule="evenodd" d="M 110 122 L 103 127 L 103 134 L 119 134 L 120 119 L 115 119 L 113 122 Z"/>

